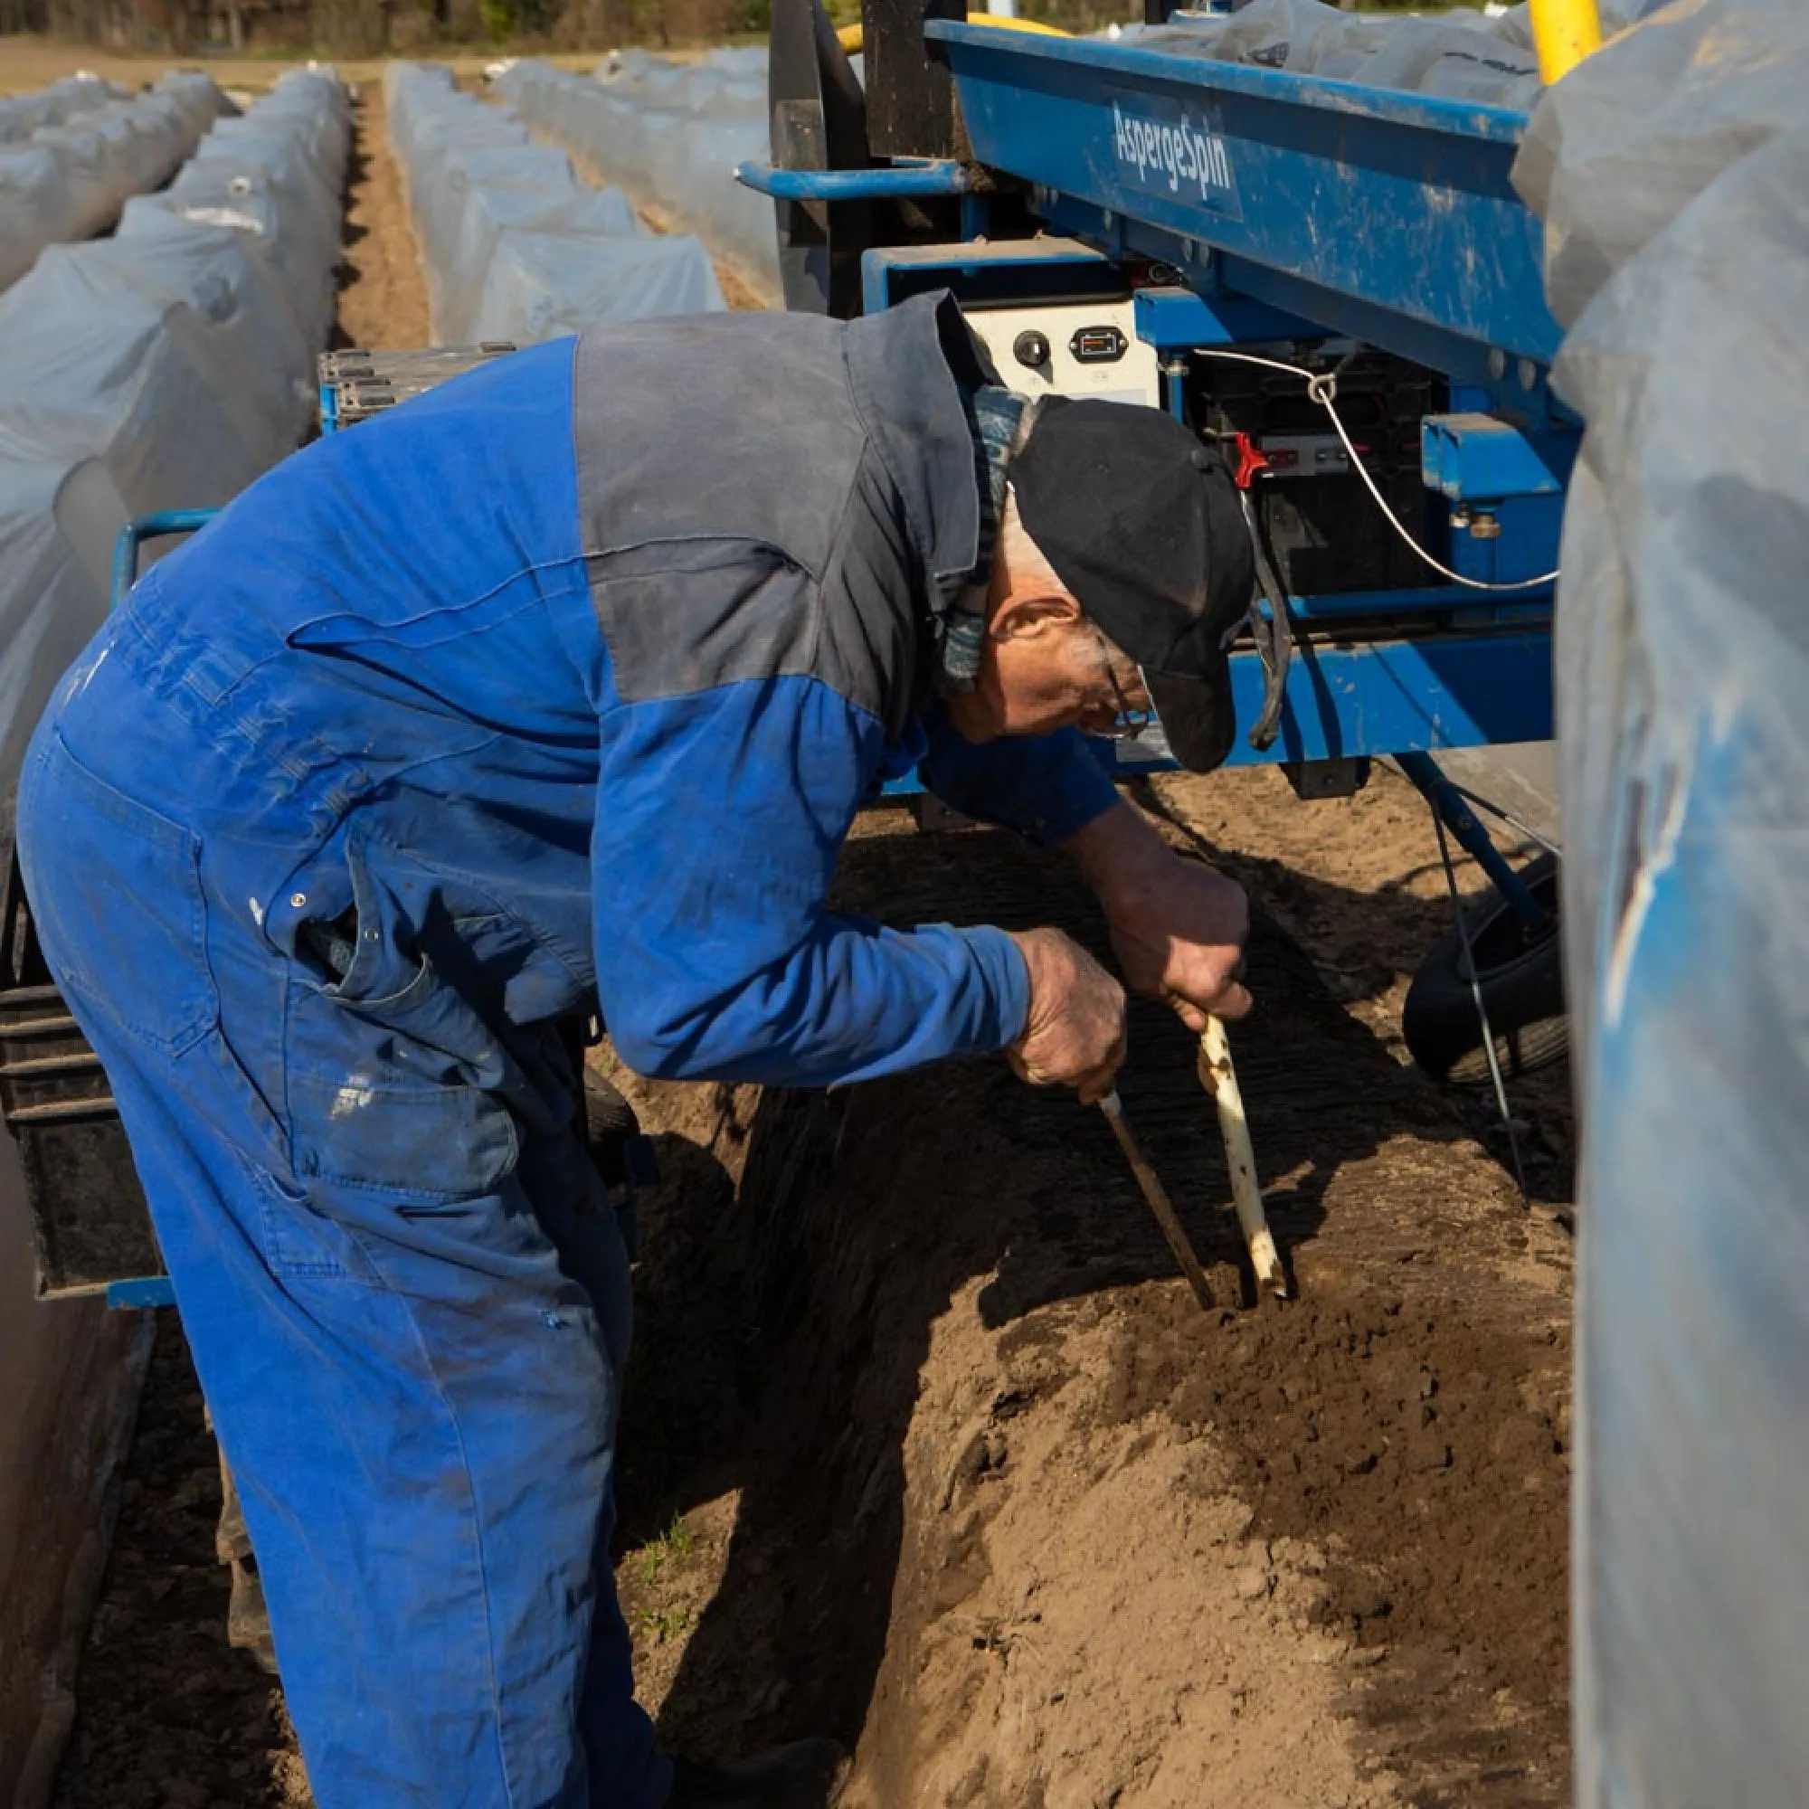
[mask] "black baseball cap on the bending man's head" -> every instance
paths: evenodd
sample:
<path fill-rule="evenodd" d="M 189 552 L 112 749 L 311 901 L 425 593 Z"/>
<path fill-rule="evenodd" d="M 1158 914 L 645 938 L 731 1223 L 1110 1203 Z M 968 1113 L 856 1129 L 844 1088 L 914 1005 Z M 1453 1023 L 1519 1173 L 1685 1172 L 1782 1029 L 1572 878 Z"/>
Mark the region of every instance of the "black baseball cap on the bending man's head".
<path fill-rule="evenodd" d="M 1087 620 L 1141 668 L 1174 758 L 1223 765 L 1237 734 L 1225 644 L 1255 588 L 1225 459 L 1160 409 L 1049 396 L 1011 488 Z"/>

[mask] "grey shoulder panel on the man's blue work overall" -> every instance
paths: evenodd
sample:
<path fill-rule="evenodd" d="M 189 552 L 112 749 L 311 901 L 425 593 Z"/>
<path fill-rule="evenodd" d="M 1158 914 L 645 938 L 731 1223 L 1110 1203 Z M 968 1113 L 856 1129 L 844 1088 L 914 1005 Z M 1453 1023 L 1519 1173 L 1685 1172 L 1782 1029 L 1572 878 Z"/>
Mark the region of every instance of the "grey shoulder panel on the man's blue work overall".
<path fill-rule="evenodd" d="M 624 702 L 798 675 L 903 725 L 921 559 L 845 335 L 706 315 L 579 340 L 581 534 Z"/>

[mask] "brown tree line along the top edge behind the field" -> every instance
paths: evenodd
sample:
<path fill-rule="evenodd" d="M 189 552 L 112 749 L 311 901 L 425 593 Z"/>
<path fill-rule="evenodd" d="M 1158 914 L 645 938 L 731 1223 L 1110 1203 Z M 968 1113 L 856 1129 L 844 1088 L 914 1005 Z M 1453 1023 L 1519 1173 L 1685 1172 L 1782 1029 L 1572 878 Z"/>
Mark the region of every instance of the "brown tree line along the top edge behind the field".
<path fill-rule="evenodd" d="M 772 0 L 0 0 L 0 33 L 177 56 L 210 49 L 382 56 L 465 43 L 606 51 L 763 36 L 771 11 Z M 829 11 L 838 24 L 861 14 L 859 0 L 829 0 Z M 1138 0 L 1018 0 L 1018 11 L 1069 31 L 1141 16 Z"/>

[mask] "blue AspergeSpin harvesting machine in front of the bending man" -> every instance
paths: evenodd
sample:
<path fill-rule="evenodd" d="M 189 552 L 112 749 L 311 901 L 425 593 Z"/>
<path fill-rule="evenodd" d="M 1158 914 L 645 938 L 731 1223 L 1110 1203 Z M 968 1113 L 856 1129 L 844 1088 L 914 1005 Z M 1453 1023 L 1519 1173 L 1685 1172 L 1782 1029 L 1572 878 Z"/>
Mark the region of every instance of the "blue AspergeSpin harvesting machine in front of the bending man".
<path fill-rule="evenodd" d="M 1509 179 L 1527 116 L 1219 60 L 1223 22 L 1151 7 L 1075 38 L 867 0 L 838 34 L 776 0 L 772 159 L 736 174 L 774 201 L 789 308 L 948 288 L 1013 387 L 1158 405 L 1221 445 L 1261 575 L 1232 762 L 1337 796 L 1391 758 L 1494 890 L 1427 957 L 1407 1046 L 1442 1078 L 1487 1078 L 1489 1044 L 1539 1066 L 1565 1047 L 1556 854 L 1511 863 L 1438 765 L 1552 734 L 1581 423 Z"/>

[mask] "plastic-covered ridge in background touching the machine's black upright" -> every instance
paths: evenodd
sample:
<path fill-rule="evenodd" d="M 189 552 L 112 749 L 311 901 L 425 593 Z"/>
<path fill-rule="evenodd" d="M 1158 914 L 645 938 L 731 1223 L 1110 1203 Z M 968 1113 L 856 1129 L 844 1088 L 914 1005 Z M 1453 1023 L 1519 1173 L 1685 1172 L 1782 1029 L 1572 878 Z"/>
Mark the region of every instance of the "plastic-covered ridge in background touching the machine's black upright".
<path fill-rule="evenodd" d="M 673 63 L 619 51 L 597 80 L 514 63 L 497 89 L 521 118 L 582 163 L 689 226 L 769 300 L 780 293 L 772 203 L 734 181 L 767 156 L 767 52 L 711 51 Z"/>

